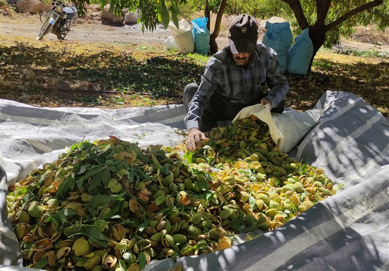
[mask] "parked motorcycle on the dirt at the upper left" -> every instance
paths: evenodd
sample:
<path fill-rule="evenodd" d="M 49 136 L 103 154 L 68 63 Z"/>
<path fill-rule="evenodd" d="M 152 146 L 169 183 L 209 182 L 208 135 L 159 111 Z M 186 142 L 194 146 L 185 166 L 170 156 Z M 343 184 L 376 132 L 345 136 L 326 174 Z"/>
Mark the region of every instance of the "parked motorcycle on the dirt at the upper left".
<path fill-rule="evenodd" d="M 41 40 L 49 32 L 56 35 L 58 39 L 64 39 L 71 31 L 71 23 L 76 17 L 77 9 L 60 0 L 52 4 L 53 8 L 49 14 L 42 13 L 39 17 L 43 25 L 38 36 L 36 36 L 36 40 Z"/>

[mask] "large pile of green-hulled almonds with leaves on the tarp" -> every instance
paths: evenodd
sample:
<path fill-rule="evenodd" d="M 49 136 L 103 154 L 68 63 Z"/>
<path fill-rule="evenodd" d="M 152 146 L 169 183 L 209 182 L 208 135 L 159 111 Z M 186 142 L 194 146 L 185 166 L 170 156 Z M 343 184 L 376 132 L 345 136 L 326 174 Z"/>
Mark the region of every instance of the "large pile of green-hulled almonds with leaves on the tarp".
<path fill-rule="evenodd" d="M 275 229 L 336 193 L 255 116 L 207 136 L 183 157 L 179 146 L 83 141 L 32 170 L 6 199 L 24 266 L 142 270 L 153 259 L 229 248 L 236 234 Z"/>

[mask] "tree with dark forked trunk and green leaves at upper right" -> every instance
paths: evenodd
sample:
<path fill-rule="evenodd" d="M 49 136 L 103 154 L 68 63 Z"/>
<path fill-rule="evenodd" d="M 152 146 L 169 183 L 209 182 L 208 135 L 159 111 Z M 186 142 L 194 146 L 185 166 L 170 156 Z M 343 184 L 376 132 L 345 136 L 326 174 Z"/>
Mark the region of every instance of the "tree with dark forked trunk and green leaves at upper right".
<path fill-rule="evenodd" d="M 374 24 L 384 30 L 389 26 L 389 4 L 384 0 L 282 0 L 293 12 L 301 30 L 309 28 L 314 52 L 331 47 L 340 36 L 349 36 L 353 26 Z"/>

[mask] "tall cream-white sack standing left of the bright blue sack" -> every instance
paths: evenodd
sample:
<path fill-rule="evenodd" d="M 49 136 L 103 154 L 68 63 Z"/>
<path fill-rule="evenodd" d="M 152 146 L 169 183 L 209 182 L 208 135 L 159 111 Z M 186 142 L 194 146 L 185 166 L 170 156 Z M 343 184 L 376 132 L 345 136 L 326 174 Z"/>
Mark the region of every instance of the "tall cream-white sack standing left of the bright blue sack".
<path fill-rule="evenodd" d="M 185 19 L 178 22 L 178 28 L 173 21 L 169 22 L 169 29 L 176 41 L 178 53 L 187 54 L 195 51 L 191 26 Z"/>

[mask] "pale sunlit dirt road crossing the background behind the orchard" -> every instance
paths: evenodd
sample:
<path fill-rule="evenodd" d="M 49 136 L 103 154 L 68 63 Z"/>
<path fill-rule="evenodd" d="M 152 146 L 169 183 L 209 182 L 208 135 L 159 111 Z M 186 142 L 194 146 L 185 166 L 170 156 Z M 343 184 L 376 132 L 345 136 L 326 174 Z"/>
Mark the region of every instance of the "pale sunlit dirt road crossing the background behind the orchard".
<path fill-rule="evenodd" d="M 23 22 L 22 24 L 20 22 Z M 34 38 L 38 35 L 41 22 L 36 14 L 15 14 L 11 16 L 0 15 L 0 35 L 4 36 L 24 36 Z M 226 29 L 226 27 L 224 27 Z M 381 41 L 373 42 L 366 38 L 358 38 L 362 36 L 371 36 L 370 28 L 363 28 L 360 33 L 354 35 L 354 39 L 340 40 L 340 45 L 334 46 L 334 50 L 354 49 L 354 50 L 370 50 L 389 52 L 389 34 L 385 32 L 380 34 Z M 68 41 L 81 42 L 124 42 L 138 45 L 163 44 L 168 36 L 172 36 L 169 28 L 163 29 L 162 25 L 158 25 L 154 31 L 141 31 L 141 24 L 106 24 L 100 20 L 100 17 L 88 15 L 86 18 L 77 18 L 76 22 L 71 26 L 71 32 L 66 36 Z M 46 40 L 56 40 L 56 36 L 52 33 L 44 37 Z M 260 37 L 261 40 L 262 37 Z M 368 41 L 368 42 L 361 42 Z M 219 48 L 224 47 L 228 43 L 227 33 L 221 31 L 219 37 L 216 38 Z"/>

